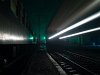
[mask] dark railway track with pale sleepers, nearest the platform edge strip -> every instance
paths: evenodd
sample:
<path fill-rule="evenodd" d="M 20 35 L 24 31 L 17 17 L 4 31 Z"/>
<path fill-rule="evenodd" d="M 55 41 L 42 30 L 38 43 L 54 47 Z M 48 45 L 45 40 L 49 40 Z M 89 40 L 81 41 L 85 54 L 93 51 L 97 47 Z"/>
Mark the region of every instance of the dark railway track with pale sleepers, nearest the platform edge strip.
<path fill-rule="evenodd" d="M 50 53 L 68 75 L 99 75 L 76 62 L 68 59 L 60 53 Z M 91 65 L 91 64 L 90 64 Z M 92 68 L 92 67 L 91 67 Z"/>

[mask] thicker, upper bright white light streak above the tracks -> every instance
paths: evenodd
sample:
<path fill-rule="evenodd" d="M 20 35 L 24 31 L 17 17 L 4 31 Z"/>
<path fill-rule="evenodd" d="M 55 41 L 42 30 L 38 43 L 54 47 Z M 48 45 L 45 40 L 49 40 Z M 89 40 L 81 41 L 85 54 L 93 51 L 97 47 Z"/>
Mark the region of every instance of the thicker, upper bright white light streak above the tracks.
<path fill-rule="evenodd" d="M 58 36 L 58 35 L 61 35 L 61 34 L 67 32 L 67 31 L 69 31 L 69 30 L 72 30 L 72 29 L 74 29 L 74 28 L 76 28 L 76 27 L 79 27 L 79 26 L 81 26 L 81 25 L 83 25 L 83 24 L 85 24 L 85 23 L 87 23 L 87 22 L 90 22 L 90 21 L 92 21 L 92 20 L 94 20 L 94 19 L 96 19 L 96 18 L 99 18 L 99 17 L 100 17 L 100 11 L 97 12 L 97 13 L 95 13 L 94 15 L 89 16 L 89 17 L 87 17 L 87 18 L 81 20 L 80 22 L 75 23 L 75 24 L 71 25 L 70 27 L 68 27 L 68 28 L 66 28 L 66 29 L 64 29 L 64 30 L 62 30 L 62 31 L 60 31 L 60 32 L 58 32 L 58 33 L 56 33 L 56 34 L 54 34 L 53 36 L 49 37 L 48 39 L 52 39 L 52 38 L 54 38 L 54 37 L 56 37 L 56 36 Z"/>

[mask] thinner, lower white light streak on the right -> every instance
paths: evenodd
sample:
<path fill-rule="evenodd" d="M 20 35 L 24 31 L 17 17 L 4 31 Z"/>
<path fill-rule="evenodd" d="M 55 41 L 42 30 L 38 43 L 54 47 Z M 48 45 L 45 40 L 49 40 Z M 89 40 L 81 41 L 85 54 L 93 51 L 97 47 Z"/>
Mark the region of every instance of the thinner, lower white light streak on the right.
<path fill-rule="evenodd" d="M 63 37 L 60 37 L 59 39 L 69 38 L 69 37 L 73 37 L 73 36 L 77 36 L 77 35 L 81 35 L 81 34 L 85 34 L 85 33 L 90 33 L 90 32 L 97 31 L 97 30 L 100 30 L 100 27 L 89 29 L 86 31 L 78 32 L 78 33 L 74 33 L 74 34 L 70 34 L 67 36 L 63 36 Z"/>

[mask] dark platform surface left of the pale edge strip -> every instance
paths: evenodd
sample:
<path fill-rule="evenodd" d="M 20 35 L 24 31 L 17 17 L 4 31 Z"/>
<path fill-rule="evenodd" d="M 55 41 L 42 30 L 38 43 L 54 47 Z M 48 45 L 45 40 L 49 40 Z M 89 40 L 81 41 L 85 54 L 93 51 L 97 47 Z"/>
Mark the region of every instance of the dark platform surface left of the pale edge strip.
<path fill-rule="evenodd" d="M 60 75 L 45 52 L 36 52 L 23 75 Z"/>

